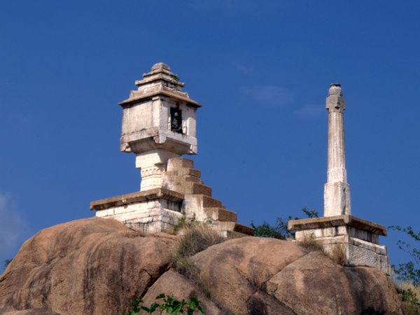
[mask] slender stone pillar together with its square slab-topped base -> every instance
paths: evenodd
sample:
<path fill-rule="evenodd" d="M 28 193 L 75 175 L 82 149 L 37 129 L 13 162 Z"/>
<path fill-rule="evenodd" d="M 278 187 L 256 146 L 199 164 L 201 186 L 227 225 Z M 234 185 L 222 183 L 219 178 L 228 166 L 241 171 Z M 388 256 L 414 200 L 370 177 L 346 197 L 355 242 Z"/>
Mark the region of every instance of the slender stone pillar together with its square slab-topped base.
<path fill-rule="evenodd" d="M 328 171 L 324 186 L 324 216 L 288 222 L 296 231 L 296 241 L 313 237 L 326 252 L 342 251 L 346 265 L 377 267 L 390 273 L 386 246 L 379 245 L 379 235 L 386 228 L 351 216 L 350 186 L 344 150 L 344 109 L 346 103 L 339 83 L 333 83 L 326 99 L 328 110 Z"/>

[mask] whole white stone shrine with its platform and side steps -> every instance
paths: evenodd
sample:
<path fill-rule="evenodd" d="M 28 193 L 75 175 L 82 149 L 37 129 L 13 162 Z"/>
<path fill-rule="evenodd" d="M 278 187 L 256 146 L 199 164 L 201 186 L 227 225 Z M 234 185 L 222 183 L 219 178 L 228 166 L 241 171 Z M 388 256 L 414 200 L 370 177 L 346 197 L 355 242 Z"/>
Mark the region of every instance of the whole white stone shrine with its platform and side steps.
<path fill-rule="evenodd" d="M 120 151 L 136 155 L 141 187 L 135 193 L 90 203 L 96 216 L 113 218 L 133 230 L 170 230 L 181 218 L 207 221 L 222 235 L 253 235 L 237 214 L 211 197 L 193 160 L 197 154 L 196 112 L 200 104 L 183 92 L 184 83 L 162 62 L 136 81 L 123 107 Z"/>

